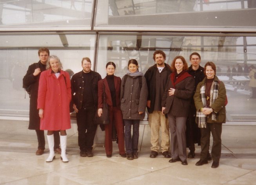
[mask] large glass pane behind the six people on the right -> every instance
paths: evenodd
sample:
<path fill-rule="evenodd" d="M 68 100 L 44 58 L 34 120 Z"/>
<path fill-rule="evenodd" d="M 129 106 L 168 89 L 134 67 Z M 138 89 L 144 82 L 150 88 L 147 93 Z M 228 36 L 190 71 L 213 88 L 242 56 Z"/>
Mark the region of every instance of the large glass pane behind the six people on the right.
<path fill-rule="evenodd" d="M 201 66 L 213 61 L 218 67 L 217 76 L 227 90 L 227 121 L 255 121 L 255 101 L 250 99 L 249 66 L 256 66 L 256 37 L 220 36 L 159 36 L 159 35 L 100 35 L 97 71 L 106 76 L 108 61 L 116 64 L 115 75 L 121 78 L 127 70 L 129 59 L 136 59 L 144 74 L 154 65 L 153 53 L 163 50 L 169 65 L 175 56 L 185 57 L 198 52 Z M 247 51 L 244 52 L 244 48 Z M 146 118 L 145 118 L 146 119 Z"/>

